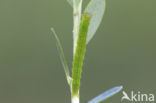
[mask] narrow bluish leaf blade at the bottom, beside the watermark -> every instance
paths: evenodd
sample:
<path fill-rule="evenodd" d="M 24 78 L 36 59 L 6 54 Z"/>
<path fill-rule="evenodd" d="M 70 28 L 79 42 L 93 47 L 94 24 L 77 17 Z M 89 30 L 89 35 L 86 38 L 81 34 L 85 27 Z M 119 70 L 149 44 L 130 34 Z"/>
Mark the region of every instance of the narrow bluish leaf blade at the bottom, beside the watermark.
<path fill-rule="evenodd" d="M 109 97 L 115 95 L 116 93 L 118 93 L 119 91 L 122 90 L 122 86 L 118 86 L 118 87 L 114 87 L 112 89 L 107 90 L 106 92 L 100 94 L 99 96 L 93 98 L 92 100 L 90 100 L 88 103 L 100 103 L 106 99 L 108 99 Z"/>

